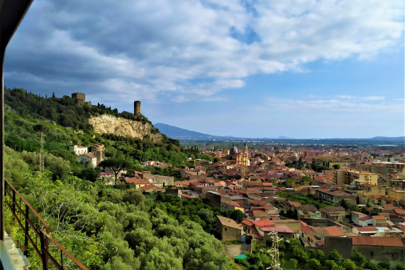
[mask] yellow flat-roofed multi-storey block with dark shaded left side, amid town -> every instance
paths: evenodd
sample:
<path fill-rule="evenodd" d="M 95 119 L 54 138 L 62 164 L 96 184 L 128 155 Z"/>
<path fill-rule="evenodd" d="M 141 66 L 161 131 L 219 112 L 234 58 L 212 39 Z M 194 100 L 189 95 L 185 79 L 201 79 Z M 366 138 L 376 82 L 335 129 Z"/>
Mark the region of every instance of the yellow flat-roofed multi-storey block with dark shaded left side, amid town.
<path fill-rule="evenodd" d="M 355 183 L 367 183 L 378 185 L 378 175 L 368 171 L 348 171 L 336 170 L 333 173 L 333 183 L 335 185 L 355 185 Z"/>

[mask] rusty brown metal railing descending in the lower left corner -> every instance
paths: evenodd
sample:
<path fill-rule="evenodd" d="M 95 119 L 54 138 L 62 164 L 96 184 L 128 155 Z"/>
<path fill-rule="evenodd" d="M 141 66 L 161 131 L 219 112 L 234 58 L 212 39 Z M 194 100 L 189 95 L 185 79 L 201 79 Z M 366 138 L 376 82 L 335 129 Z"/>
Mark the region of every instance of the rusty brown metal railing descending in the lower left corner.
<path fill-rule="evenodd" d="M 88 270 L 80 261 L 73 257 L 70 252 L 62 247 L 55 239 L 50 237 L 49 225 L 43 220 L 40 215 L 31 207 L 31 205 L 18 193 L 16 188 L 10 184 L 9 180 L 4 178 L 4 191 L 9 200 L 5 200 L 6 204 L 9 206 L 13 214 L 13 219 L 18 222 L 24 233 L 24 255 L 28 257 L 28 243 L 35 250 L 35 253 L 42 261 L 43 269 L 50 269 L 49 261 L 56 269 L 64 269 L 63 257 L 71 259 L 79 269 Z M 30 232 L 35 234 L 35 239 L 30 235 Z M 32 234 L 32 233 L 31 233 Z M 40 244 L 38 245 L 38 239 Z M 59 261 L 50 253 L 49 243 L 52 242 L 57 250 L 60 252 Z M 56 253 L 59 253 L 58 251 Z M 55 252 L 52 252 L 55 254 Z M 65 264 L 66 265 L 66 264 Z M 52 266 L 51 266 L 52 267 Z"/>

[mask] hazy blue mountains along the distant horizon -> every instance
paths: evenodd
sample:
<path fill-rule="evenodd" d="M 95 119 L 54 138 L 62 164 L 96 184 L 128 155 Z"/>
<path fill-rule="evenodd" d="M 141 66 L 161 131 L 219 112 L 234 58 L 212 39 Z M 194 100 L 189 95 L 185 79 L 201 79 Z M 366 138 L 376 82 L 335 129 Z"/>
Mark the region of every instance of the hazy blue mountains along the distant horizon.
<path fill-rule="evenodd" d="M 153 124 L 155 128 L 159 129 L 159 131 L 162 134 L 166 134 L 170 138 L 173 139 L 184 139 L 184 140 L 211 140 L 211 139 L 279 139 L 279 140 L 295 140 L 294 138 L 289 138 L 286 136 L 279 136 L 278 138 L 239 138 L 239 137 L 233 137 L 233 136 L 215 136 L 215 135 L 210 135 L 210 134 L 204 134 L 196 131 L 191 131 L 188 129 L 181 129 L 177 126 L 170 126 L 168 124 L 162 124 L 162 123 L 156 123 Z M 405 136 L 400 136 L 400 137 L 384 137 L 384 136 L 377 136 L 369 139 L 352 139 L 352 138 L 333 138 L 333 139 L 323 139 L 325 141 L 372 141 L 372 142 L 378 142 L 378 141 L 385 141 L 385 142 L 400 142 L 404 143 L 405 142 Z"/>

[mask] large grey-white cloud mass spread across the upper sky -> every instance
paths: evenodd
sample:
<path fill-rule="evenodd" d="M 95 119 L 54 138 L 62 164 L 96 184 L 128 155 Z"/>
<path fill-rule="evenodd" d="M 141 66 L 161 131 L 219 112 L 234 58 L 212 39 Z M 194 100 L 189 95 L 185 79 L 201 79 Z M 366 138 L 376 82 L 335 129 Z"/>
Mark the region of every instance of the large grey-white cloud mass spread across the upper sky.
<path fill-rule="evenodd" d="M 403 6 L 399 0 L 35 0 L 9 45 L 6 80 L 26 74 L 28 85 L 68 82 L 106 98 L 111 91 L 124 99 L 175 92 L 184 101 L 204 100 L 243 87 L 259 72 L 301 71 L 318 59 L 396 49 L 403 45 Z"/>

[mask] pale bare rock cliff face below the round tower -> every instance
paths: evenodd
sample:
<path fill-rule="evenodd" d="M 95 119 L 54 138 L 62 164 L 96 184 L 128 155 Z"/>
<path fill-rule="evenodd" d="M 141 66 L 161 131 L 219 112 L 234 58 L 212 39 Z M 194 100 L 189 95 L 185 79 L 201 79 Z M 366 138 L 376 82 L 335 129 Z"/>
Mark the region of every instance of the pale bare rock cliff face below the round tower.
<path fill-rule="evenodd" d="M 109 133 L 138 139 L 143 139 L 144 136 L 149 135 L 152 141 L 160 141 L 160 139 L 162 139 L 160 133 L 152 134 L 150 132 L 152 125 L 149 123 L 143 124 L 140 121 L 114 117 L 110 114 L 91 117 L 89 119 L 89 124 L 91 124 L 94 131 L 99 134 Z"/>

